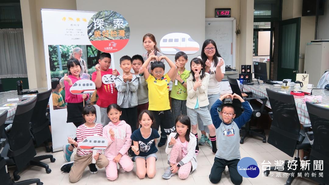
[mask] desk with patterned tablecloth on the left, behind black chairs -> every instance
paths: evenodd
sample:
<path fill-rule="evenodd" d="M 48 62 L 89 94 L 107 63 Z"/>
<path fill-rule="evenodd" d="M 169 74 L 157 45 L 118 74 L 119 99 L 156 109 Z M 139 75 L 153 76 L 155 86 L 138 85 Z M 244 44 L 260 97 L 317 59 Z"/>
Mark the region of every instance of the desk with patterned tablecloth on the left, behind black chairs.
<path fill-rule="evenodd" d="M 45 92 L 48 89 L 47 88 L 37 88 L 37 89 L 24 89 L 23 91 L 32 91 L 32 90 L 38 90 L 38 92 Z M 17 95 L 17 91 L 7 91 L 7 92 L 1 92 L 0 93 L 0 107 L 3 107 L 4 104 L 9 104 L 9 103 L 16 103 L 17 105 L 19 104 L 25 104 L 27 102 L 30 102 L 31 100 L 33 100 L 35 97 L 26 97 L 26 98 L 22 98 L 22 96 L 24 95 Z M 19 101 L 10 101 L 7 102 L 7 99 L 10 98 L 18 98 Z M 27 99 L 24 101 L 20 101 L 21 99 Z M 16 107 L 15 106 L 10 106 L 8 109 L 2 109 L 0 110 L 0 114 L 2 114 L 3 112 L 5 112 L 6 110 L 8 110 L 8 114 L 7 114 L 7 120 L 12 120 L 14 118 L 15 112 L 16 112 Z"/>

